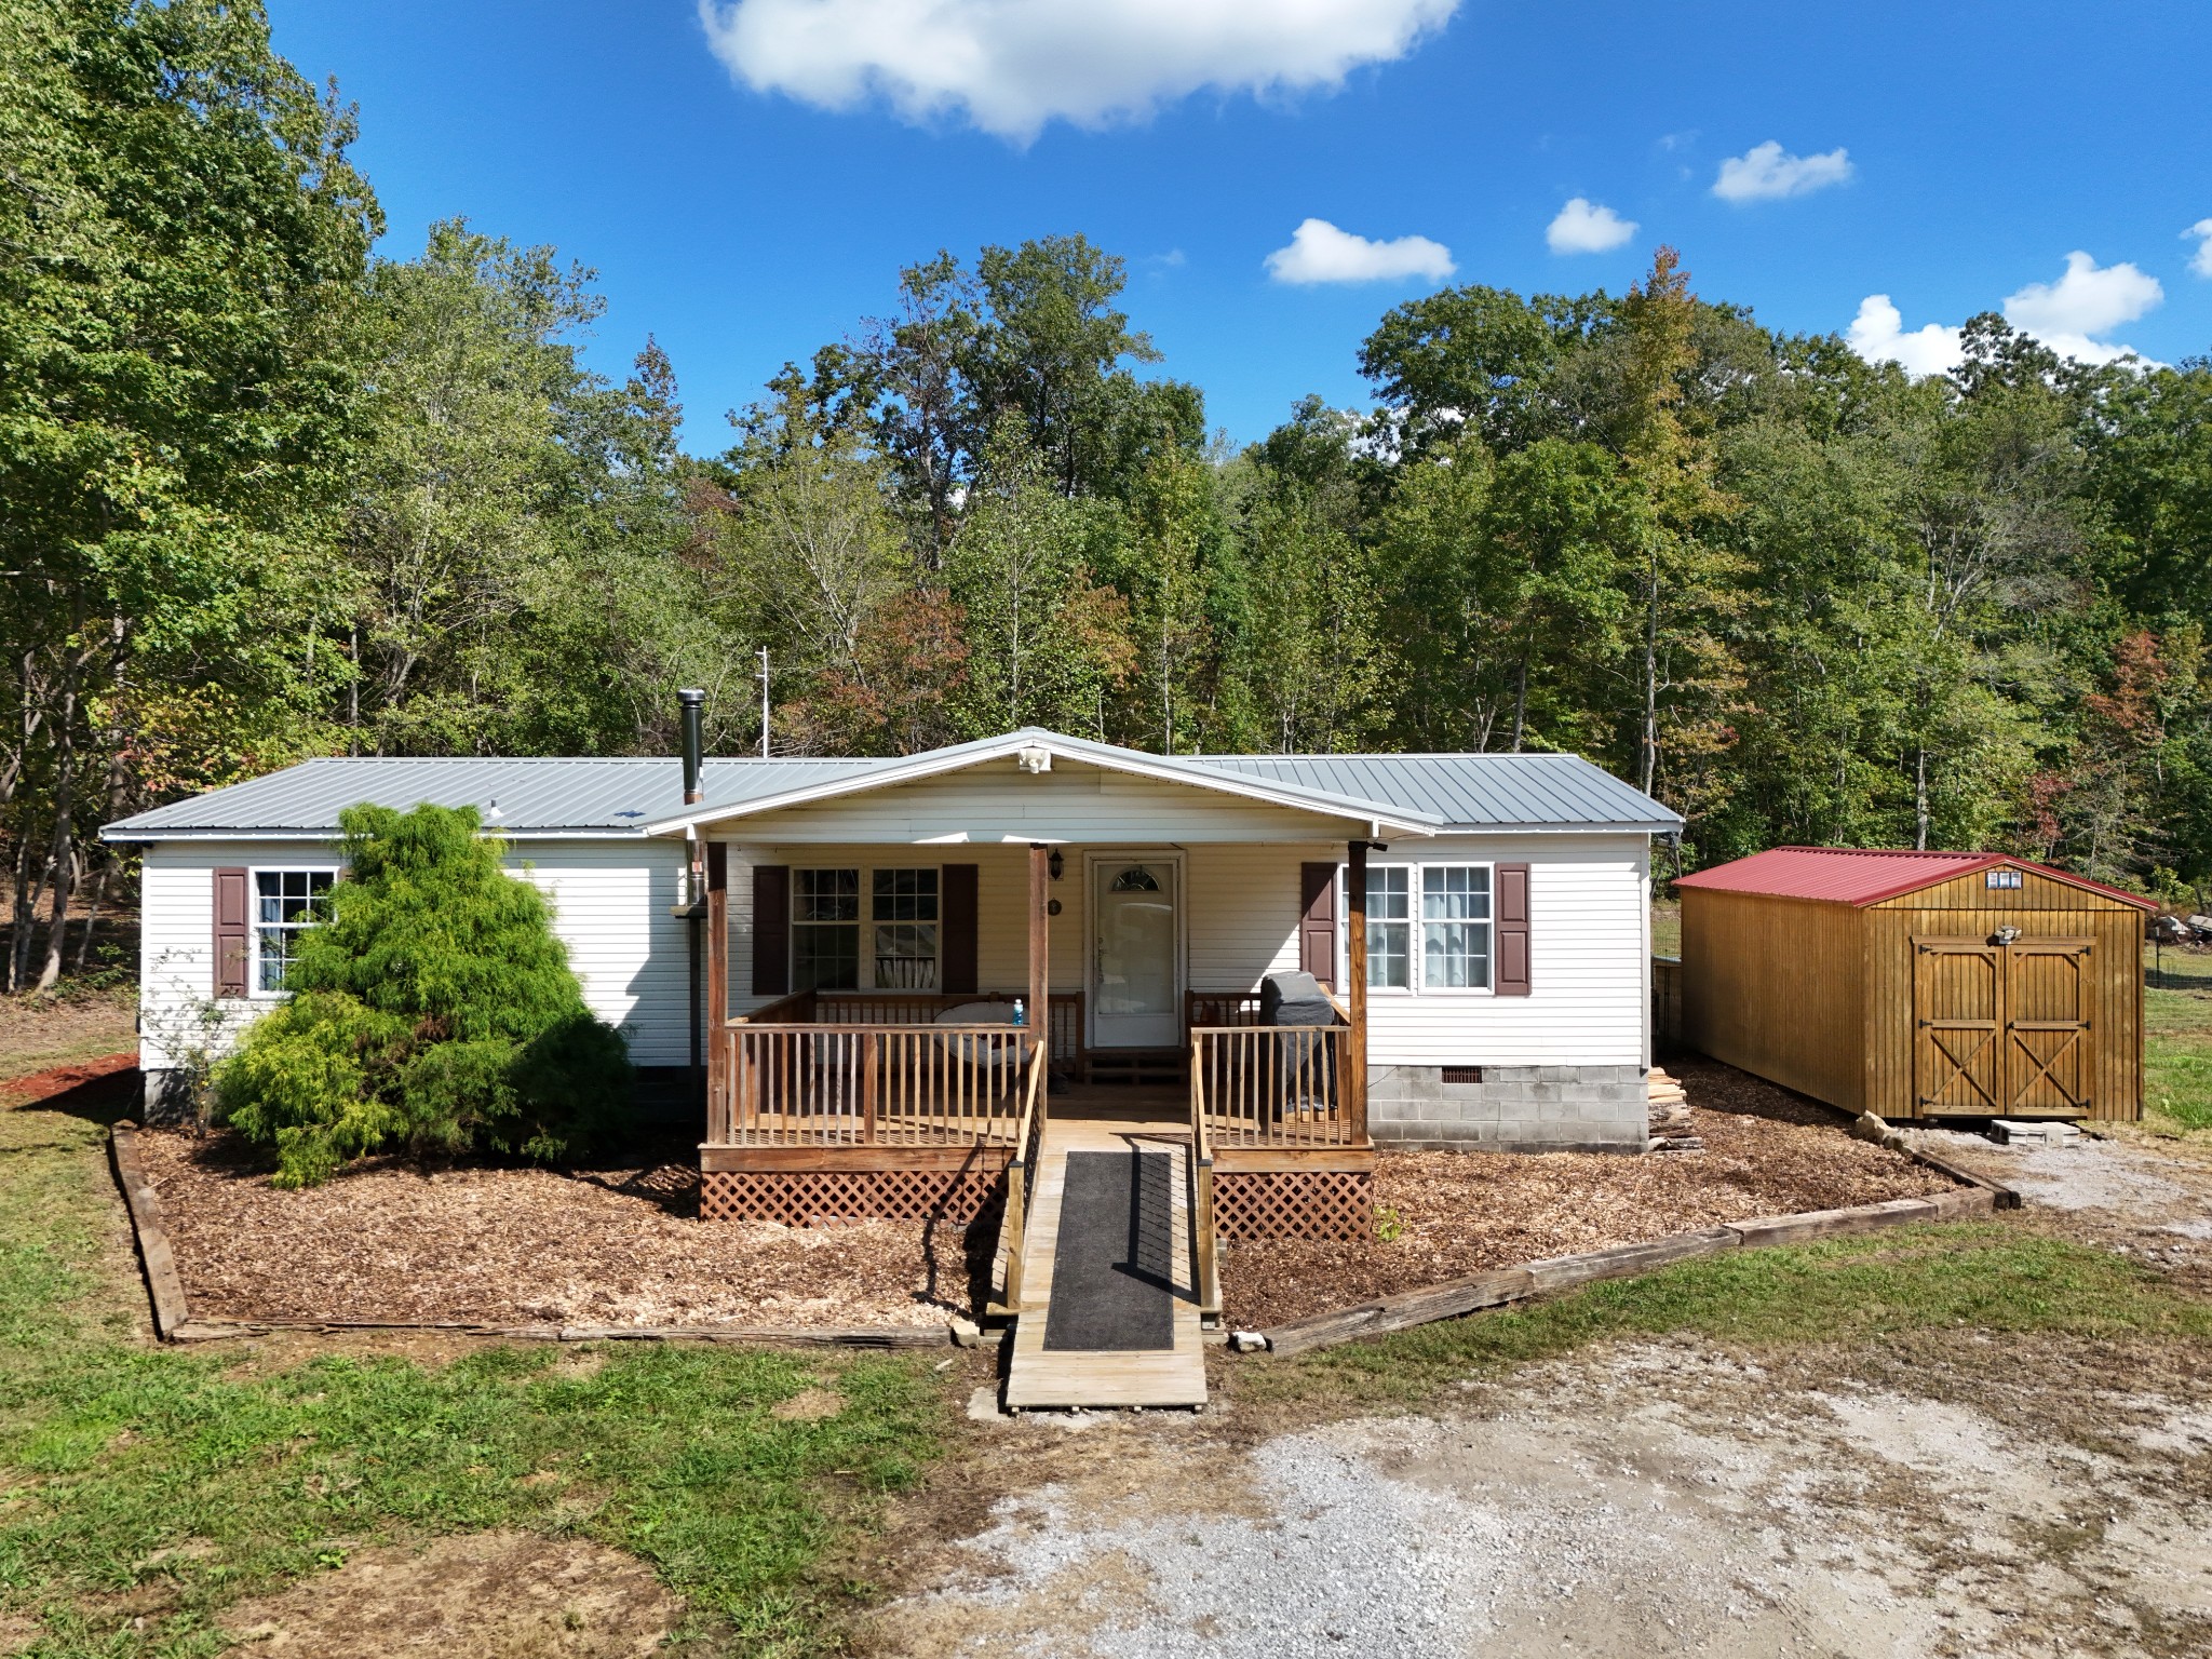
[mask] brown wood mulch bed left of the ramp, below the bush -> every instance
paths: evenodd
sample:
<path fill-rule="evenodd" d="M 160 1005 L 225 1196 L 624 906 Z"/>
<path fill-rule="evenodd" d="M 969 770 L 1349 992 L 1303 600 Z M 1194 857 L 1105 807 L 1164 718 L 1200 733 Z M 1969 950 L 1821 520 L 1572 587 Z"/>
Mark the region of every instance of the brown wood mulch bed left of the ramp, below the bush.
<path fill-rule="evenodd" d="M 936 1325 L 998 1241 L 973 1228 L 699 1221 L 699 1172 L 372 1161 L 270 1186 L 230 1135 L 139 1139 L 195 1318 L 491 1325 Z"/>

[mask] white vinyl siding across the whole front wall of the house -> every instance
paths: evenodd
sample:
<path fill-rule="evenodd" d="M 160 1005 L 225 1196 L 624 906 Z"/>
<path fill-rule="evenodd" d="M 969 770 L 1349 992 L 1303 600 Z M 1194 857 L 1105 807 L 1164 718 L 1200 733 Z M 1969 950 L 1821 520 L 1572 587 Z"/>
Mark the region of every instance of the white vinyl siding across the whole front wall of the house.
<path fill-rule="evenodd" d="M 1029 783 L 1031 779 L 1018 781 Z M 1175 787 L 1175 785 L 1152 785 Z M 1175 790 L 1175 810 L 1190 792 Z M 1237 803 L 1232 803 L 1237 805 Z M 1241 812 L 1243 807 L 1237 805 Z M 1250 989 L 1265 973 L 1298 964 L 1301 863 L 1340 863 L 1343 843 L 1303 841 L 1219 845 L 1183 838 L 1161 807 L 1150 834 L 1097 838 L 1088 849 L 1186 854 L 1186 978 L 1197 991 Z M 1091 949 L 1082 854 L 1064 847 L 1066 876 L 1051 885 L 1062 914 L 1051 922 L 1053 984 L 1084 982 Z M 307 867 L 330 849 L 301 841 L 157 843 L 146 849 L 142 933 L 142 1053 L 170 1064 L 170 1046 L 201 1042 L 197 1009 L 212 1006 L 217 867 Z M 931 863 L 973 863 L 978 880 L 978 982 L 1020 991 L 1029 978 L 1029 849 L 1020 843 L 947 845 Z M 1526 860 L 1531 865 L 1533 982 L 1526 998 L 1405 995 L 1369 998 L 1369 1057 L 1376 1066 L 1604 1066 L 1644 1062 L 1648 995 L 1646 847 L 1621 836 L 1436 836 L 1400 838 L 1376 867 L 1425 863 Z M 730 1006 L 752 995 L 752 863 L 792 867 L 891 867 L 918 863 L 883 845 L 743 843 L 730 847 Z M 686 1011 L 688 951 L 679 841 L 531 841 L 511 865 L 553 900 L 555 931 L 584 982 L 591 1009 L 630 1029 L 641 1066 L 681 1066 L 690 1053 Z M 526 869 L 524 869 L 526 865 Z M 863 889 L 865 894 L 867 889 Z M 865 898 L 863 898 L 865 902 Z M 217 1009 L 234 1026 L 265 1006 L 234 1000 Z"/>

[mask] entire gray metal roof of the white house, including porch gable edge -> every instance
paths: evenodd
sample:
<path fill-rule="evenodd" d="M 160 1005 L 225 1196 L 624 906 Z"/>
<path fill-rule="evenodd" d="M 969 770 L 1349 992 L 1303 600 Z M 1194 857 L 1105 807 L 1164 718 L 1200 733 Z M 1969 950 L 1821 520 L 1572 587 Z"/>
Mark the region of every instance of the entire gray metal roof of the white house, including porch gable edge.
<path fill-rule="evenodd" d="M 1013 734 L 1015 739 L 1029 732 Z M 1035 737 L 1051 737 L 1035 732 Z M 1011 739 L 938 750 L 995 750 Z M 1071 754 L 1110 757 L 1104 743 L 1055 737 Z M 1577 754 L 1208 754 L 1128 752 L 1148 768 L 1281 792 L 1312 807 L 1374 807 L 1447 830 L 1674 830 L 1681 818 Z M 900 759 L 714 759 L 706 763 L 708 814 L 752 801 L 865 787 L 909 774 L 931 757 Z M 358 801 L 407 810 L 473 805 L 511 836 L 641 836 L 686 816 L 675 759 L 316 759 L 248 783 L 111 823 L 108 841 L 237 836 L 334 836 L 338 812 Z M 495 812 L 493 812 L 495 810 Z"/>

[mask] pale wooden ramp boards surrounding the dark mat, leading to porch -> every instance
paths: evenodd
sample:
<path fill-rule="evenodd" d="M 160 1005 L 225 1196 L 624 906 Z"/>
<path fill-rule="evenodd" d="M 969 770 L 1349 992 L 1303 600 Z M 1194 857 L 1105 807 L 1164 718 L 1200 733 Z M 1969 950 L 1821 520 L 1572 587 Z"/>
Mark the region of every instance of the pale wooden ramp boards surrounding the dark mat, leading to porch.
<path fill-rule="evenodd" d="M 1091 1095 L 1093 1091 L 1082 1093 Z M 1190 1272 L 1190 1124 L 1186 1117 L 1164 1113 L 1166 1099 L 1146 1099 L 1150 1091 L 1097 1093 L 1117 1102 L 1113 1117 L 1064 1115 L 1068 1106 L 1084 1110 L 1091 1102 L 1064 1106 L 1053 1099 L 1053 1117 L 1044 1128 L 1044 1157 L 1037 1166 L 1022 1254 L 1026 1312 L 1013 1327 L 1006 1407 L 1022 1411 L 1037 1407 L 1206 1405 L 1206 1347 Z M 1053 1252 L 1060 1239 L 1060 1201 L 1068 1152 L 1117 1152 L 1130 1146 L 1168 1152 L 1175 1159 L 1170 1181 L 1175 1197 L 1168 1221 L 1175 1347 L 1115 1354 L 1046 1349 L 1044 1323 L 1053 1298 Z"/>

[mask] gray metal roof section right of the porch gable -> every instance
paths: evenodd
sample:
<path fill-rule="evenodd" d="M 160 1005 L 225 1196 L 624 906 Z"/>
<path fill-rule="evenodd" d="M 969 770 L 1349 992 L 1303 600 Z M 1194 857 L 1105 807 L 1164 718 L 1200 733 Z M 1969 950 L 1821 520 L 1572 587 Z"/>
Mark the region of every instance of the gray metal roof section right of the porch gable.
<path fill-rule="evenodd" d="M 1451 830 L 1681 827 L 1641 790 L 1579 754 L 1201 754 L 1252 779 L 1427 812 Z"/>

